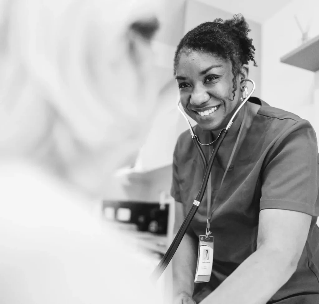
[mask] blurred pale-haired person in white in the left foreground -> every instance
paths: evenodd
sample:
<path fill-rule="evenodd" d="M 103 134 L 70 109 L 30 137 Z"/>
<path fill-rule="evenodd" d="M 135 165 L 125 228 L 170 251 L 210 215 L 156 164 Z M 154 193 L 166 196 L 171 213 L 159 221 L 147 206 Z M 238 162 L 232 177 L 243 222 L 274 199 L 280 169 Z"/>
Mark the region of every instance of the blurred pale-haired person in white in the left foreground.
<path fill-rule="evenodd" d="M 0 5 L 0 302 L 156 303 L 144 253 L 90 201 L 144 139 L 159 3 Z"/>

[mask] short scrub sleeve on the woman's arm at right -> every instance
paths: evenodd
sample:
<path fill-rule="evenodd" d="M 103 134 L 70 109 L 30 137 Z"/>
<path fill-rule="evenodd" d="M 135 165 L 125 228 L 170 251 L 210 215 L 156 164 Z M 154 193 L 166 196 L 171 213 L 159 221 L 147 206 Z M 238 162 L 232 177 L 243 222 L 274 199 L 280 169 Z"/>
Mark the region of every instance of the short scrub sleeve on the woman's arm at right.
<path fill-rule="evenodd" d="M 306 120 L 293 125 L 272 147 L 262 172 L 260 210 L 286 209 L 319 216 L 318 147 Z"/>

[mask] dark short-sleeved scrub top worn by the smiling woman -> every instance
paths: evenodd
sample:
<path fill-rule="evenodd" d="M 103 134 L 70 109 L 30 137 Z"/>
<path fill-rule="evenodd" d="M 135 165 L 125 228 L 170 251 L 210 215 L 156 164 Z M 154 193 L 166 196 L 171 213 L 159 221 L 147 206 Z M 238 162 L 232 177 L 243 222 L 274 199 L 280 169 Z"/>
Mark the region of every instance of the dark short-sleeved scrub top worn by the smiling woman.
<path fill-rule="evenodd" d="M 213 208 L 211 232 L 215 237 L 211 281 L 198 283 L 202 300 L 256 251 L 258 217 L 262 209 L 286 209 L 312 216 L 310 231 L 298 268 L 290 280 L 268 303 L 319 303 L 319 215 L 318 148 L 310 123 L 295 114 L 260 104 L 245 138 L 226 174 Z M 211 132 L 198 125 L 195 133 L 201 142 L 210 142 Z M 206 157 L 207 150 L 204 150 Z M 212 199 L 226 168 L 219 157 L 212 168 Z M 182 133 L 174 150 L 171 195 L 189 211 L 204 177 L 203 165 L 189 131 Z M 207 196 L 191 222 L 188 234 L 198 240 L 205 233 Z M 202 295 L 200 296 L 200 294 Z M 198 296 L 199 295 L 199 296 Z"/>

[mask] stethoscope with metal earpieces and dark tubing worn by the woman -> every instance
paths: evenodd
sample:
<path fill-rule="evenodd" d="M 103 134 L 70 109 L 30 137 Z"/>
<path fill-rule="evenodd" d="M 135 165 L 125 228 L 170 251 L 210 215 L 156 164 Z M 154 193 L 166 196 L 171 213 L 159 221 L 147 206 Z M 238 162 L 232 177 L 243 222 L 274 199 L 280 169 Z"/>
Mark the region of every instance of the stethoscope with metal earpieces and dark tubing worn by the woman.
<path fill-rule="evenodd" d="M 202 185 L 200 187 L 200 190 L 196 196 L 196 199 L 194 200 L 193 204 L 192 204 L 192 207 L 190 208 L 187 216 L 185 217 L 180 229 L 178 230 L 172 244 L 170 245 L 170 247 L 167 249 L 167 252 L 165 253 L 165 255 L 163 256 L 163 258 L 161 259 L 161 261 L 159 262 L 159 264 L 157 265 L 156 269 L 153 271 L 152 273 L 152 279 L 153 280 L 158 280 L 159 277 L 161 276 L 161 274 L 164 272 L 164 270 L 166 269 L 167 265 L 169 264 L 169 262 L 171 261 L 171 259 L 173 258 L 179 244 L 181 243 L 182 241 L 182 238 L 184 237 L 185 233 L 186 233 L 186 230 L 188 229 L 189 227 L 189 224 L 191 222 L 191 220 L 193 219 L 193 217 L 195 216 L 196 212 L 197 212 L 197 209 L 204 197 L 204 193 L 205 193 L 205 190 L 206 190 L 206 187 L 207 187 L 207 183 L 208 183 L 208 179 L 209 179 L 209 176 L 210 176 L 210 173 L 211 173 L 211 168 L 213 166 L 213 162 L 216 158 L 216 155 L 217 155 L 217 152 L 219 150 L 219 147 L 221 146 L 224 138 L 226 137 L 227 133 L 228 133 L 228 130 L 229 128 L 231 127 L 231 125 L 233 124 L 233 121 L 236 117 L 236 115 L 238 114 L 238 112 L 240 111 L 240 109 L 243 107 L 243 105 L 248 101 L 248 99 L 251 97 L 251 95 L 254 93 L 255 91 L 255 82 L 253 80 L 250 80 L 250 79 L 244 79 L 243 81 L 247 82 L 251 82 L 252 85 L 253 85 L 253 88 L 252 90 L 250 91 L 250 93 L 248 94 L 248 90 L 247 90 L 247 87 L 245 86 L 244 87 L 244 90 L 245 90 L 245 98 L 242 99 L 241 98 L 241 104 L 239 105 L 239 107 L 237 108 L 237 110 L 234 112 L 233 116 L 231 117 L 231 119 L 229 120 L 228 124 L 226 125 L 226 128 L 221 130 L 218 137 L 212 141 L 211 143 L 208 143 L 208 144 L 203 144 L 199 141 L 197 135 L 194 133 L 194 130 L 193 130 L 193 127 L 192 125 L 190 124 L 189 122 L 189 119 L 187 118 L 187 116 L 185 115 L 185 113 L 182 111 L 181 107 L 180 107 L 180 101 L 178 102 L 178 110 L 182 113 L 183 117 L 186 119 L 187 121 L 187 124 L 189 126 L 189 131 L 190 131 L 190 134 L 192 136 L 192 141 L 194 142 L 195 146 L 197 147 L 198 149 L 198 152 L 200 154 L 200 157 L 202 159 L 202 162 L 204 164 L 204 168 L 206 169 L 205 170 L 205 174 L 204 174 L 204 179 L 203 179 L 203 182 L 202 182 Z M 207 160 L 206 160 L 206 157 L 204 155 L 204 152 L 202 150 L 202 148 L 200 147 L 201 145 L 202 146 L 210 146 L 212 145 L 214 142 L 216 142 L 216 145 L 215 145 L 215 148 L 213 149 L 212 153 L 211 153 L 211 156 L 209 158 L 209 161 L 207 163 Z"/>

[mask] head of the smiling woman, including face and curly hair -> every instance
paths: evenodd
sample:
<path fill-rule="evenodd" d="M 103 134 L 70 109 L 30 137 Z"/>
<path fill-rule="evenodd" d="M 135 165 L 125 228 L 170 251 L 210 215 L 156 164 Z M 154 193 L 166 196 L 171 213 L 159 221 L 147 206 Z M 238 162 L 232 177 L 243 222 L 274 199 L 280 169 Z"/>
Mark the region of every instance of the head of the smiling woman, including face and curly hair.
<path fill-rule="evenodd" d="M 186 34 L 174 58 L 184 109 L 202 128 L 214 131 L 226 127 L 239 106 L 247 64 L 252 60 L 257 66 L 246 21 L 216 20 L 216 24 L 206 22 Z M 238 48 L 239 39 L 243 49 Z"/>

